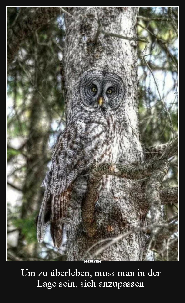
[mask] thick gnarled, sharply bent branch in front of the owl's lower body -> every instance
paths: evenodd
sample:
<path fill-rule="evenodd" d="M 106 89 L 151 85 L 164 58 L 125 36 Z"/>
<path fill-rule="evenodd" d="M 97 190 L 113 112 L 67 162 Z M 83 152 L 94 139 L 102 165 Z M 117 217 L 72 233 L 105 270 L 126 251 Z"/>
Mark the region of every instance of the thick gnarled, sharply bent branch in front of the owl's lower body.
<path fill-rule="evenodd" d="M 165 148 L 167 147 L 165 146 Z M 153 224 L 158 224 L 161 221 L 161 204 L 173 204 L 178 202 L 177 187 L 167 188 L 160 191 L 161 182 L 167 174 L 168 169 L 169 163 L 164 159 L 153 162 L 144 162 L 141 165 L 121 165 L 111 163 L 94 164 L 89 169 L 88 192 L 82 204 L 82 220 L 85 232 L 88 236 L 93 237 L 97 232 L 94 212 L 95 204 L 98 201 L 100 180 L 103 175 L 113 175 L 128 179 L 141 179 L 143 177 L 150 176 L 146 186 L 146 197 L 151 206 L 152 222 Z M 153 229 L 153 234 L 156 235 L 158 230 L 159 227 L 156 227 L 155 230 Z M 153 242 L 151 241 L 151 244 L 152 243 Z"/>

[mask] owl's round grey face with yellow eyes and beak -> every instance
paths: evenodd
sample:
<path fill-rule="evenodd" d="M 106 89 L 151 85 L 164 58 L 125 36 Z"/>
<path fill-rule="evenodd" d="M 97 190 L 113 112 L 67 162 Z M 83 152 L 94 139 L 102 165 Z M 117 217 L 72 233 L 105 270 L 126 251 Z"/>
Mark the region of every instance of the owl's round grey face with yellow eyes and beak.
<path fill-rule="evenodd" d="M 123 81 L 116 73 L 91 69 L 79 81 L 81 101 L 97 111 L 117 109 L 123 101 L 125 89 Z"/>

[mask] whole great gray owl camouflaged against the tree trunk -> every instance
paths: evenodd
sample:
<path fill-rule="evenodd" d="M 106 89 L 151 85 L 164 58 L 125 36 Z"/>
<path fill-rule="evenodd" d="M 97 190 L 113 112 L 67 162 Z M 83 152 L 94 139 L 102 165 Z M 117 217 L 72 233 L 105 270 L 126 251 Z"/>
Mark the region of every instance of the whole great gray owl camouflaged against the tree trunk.
<path fill-rule="evenodd" d="M 50 222 L 54 245 L 61 246 L 69 201 L 74 191 L 78 200 L 85 196 L 88 167 L 95 162 L 118 161 L 124 94 L 123 81 L 116 72 L 93 68 L 80 77 L 67 126 L 54 147 L 51 170 L 43 181 L 39 242 Z"/>

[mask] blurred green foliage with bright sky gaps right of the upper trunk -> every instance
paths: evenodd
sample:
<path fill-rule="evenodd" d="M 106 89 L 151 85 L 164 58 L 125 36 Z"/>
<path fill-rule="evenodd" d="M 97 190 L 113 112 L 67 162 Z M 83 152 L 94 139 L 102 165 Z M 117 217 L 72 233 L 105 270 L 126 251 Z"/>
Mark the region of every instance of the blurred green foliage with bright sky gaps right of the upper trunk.
<path fill-rule="evenodd" d="M 178 7 L 173 7 L 173 13 L 177 19 Z M 150 146 L 168 142 L 178 131 L 178 38 L 168 7 L 141 7 L 138 34 L 148 40 L 145 51 L 143 45 L 139 49 L 139 115 L 143 142 L 145 146 Z M 145 60 L 142 60 L 143 55 Z M 172 125 L 153 76 L 171 116 Z"/>

